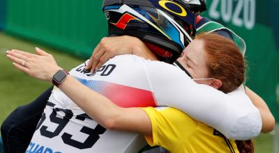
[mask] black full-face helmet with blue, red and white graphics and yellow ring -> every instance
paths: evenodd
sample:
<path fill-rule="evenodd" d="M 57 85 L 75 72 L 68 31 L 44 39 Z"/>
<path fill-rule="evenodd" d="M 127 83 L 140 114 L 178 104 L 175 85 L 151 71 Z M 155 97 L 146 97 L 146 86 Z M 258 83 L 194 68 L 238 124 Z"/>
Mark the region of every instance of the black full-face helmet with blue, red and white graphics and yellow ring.
<path fill-rule="evenodd" d="M 109 36 L 140 38 L 161 61 L 173 63 L 195 36 L 204 0 L 104 0 Z"/>

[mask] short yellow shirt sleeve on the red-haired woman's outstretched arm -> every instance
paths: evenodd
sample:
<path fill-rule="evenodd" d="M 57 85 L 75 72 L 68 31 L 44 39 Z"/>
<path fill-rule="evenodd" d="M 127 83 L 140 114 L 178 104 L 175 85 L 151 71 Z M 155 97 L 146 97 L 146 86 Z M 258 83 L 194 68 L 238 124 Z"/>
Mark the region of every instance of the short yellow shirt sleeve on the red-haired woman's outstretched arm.
<path fill-rule="evenodd" d="M 149 115 L 152 136 L 145 136 L 149 145 L 160 145 L 167 150 L 175 150 L 197 129 L 197 121 L 185 113 L 169 107 L 147 107 L 143 110 Z"/>

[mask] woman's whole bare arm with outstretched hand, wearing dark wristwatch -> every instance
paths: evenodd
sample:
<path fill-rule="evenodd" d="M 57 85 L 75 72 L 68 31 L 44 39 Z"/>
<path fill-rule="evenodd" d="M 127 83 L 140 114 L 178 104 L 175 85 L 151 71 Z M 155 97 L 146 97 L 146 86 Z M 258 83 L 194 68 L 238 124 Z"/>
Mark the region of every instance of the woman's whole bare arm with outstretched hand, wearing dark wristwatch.
<path fill-rule="evenodd" d="M 52 76 L 62 68 L 59 67 L 53 56 L 36 48 L 38 55 L 24 51 L 7 51 L 7 56 L 13 61 L 13 65 L 31 77 L 52 82 Z M 28 61 L 25 67 L 24 61 Z M 133 131 L 140 134 L 151 134 L 151 122 L 149 116 L 142 108 L 121 108 L 112 103 L 107 97 L 100 95 L 74 77 L 68 75 L 59 88 L 70 99 L 80 106 L 93 120 L 107 129 Z M 77 92 L 82 91 L 82 92 Z"/>

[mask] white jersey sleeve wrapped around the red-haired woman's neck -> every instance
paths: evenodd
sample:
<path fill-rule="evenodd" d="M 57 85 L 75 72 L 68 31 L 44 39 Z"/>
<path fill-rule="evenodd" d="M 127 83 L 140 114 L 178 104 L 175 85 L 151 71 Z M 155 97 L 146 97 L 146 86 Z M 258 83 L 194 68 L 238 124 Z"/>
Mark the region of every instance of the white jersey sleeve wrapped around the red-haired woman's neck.
<path fill-rule="evenodd" d="M 258 136 L 262 120 L 245 91 L 225 94 L 197 84 L 178 67 L 143 61 L 158 106 L 172 106 L 217 129 L 227 138 L 247 140 Z"/>

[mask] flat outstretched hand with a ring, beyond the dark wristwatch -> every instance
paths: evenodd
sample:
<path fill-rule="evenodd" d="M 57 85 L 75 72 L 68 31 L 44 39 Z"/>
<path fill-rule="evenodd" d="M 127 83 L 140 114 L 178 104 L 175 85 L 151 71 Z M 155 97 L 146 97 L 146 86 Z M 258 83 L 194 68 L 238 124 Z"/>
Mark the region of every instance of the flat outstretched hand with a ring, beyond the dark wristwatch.
<path fill-rule="evenodd" d="M 29 76 L 52 82 L 53 75 L 61 70 L 53 56 L 36 47 L 36 54 L 13 49 L 6 52 L 6 56 L 13 61 L 13 65 Z"/>

